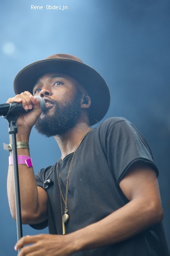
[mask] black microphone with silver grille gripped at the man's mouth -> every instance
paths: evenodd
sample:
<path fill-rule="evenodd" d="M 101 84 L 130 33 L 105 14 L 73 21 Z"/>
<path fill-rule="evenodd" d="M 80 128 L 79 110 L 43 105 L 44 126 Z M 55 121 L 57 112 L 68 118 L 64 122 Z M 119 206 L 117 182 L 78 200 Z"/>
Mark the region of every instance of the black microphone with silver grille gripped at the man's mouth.
<path fill-rule="evenodd" d="M 39 96 L 35 96 L 35 98 L 39 100 L 41 110 L 43 111 L 45 109 L 45 100 L 43 98 L 39 97 Z M 9 112 L 9 110 L 15 108 L 16 106 L 19 106 L 22 109 L 21 113 L 28 112 L 28 111 L 23 109 L 21 103 L 12 102 L 10 104 L 9 103 L 0 104 L 0 116 L 6 116 Z"/>

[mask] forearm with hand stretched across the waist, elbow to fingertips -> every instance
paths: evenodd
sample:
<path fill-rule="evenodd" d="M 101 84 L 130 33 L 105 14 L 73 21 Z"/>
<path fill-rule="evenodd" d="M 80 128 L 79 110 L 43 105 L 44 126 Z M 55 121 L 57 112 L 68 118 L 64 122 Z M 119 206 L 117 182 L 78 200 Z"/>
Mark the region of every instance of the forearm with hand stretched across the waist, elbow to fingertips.
<path fill-rule="evenodd" d="M 23 237 L 17 242 L 15 250 L 33 243 L 34 249 L 32 246 L 23 247 L 21 254 L 26 255 L 34 251 L 41 254 L 44 252 L 45 255 L 48 251 L 49 255 L 72 255 L 77 251 L 121 242 L 160 221 L 161 214 L 155 214 L 155 207 L 152 203 L 149 205 L 147 201 L 146 207 L 142 199 L 132 200 L 103 220 L 65 236 L 40 234 Z M 156 212 L 157 210 L 155 208 Z"/>

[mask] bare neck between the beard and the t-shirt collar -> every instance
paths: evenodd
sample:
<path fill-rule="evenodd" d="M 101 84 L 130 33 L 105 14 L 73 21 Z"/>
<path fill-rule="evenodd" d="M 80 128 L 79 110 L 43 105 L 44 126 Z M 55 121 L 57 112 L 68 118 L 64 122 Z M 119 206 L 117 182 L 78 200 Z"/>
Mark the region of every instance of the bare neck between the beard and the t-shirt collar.
<path fill-rule="evenodd" d="M 54 137 L 61 150 L 61 159 L 64 159 L 68 154 L 75 151 L 83 135 L 88 133 L 90 129 L 91 127 L 88 123 L 79 123 L 67 133 Z"/>

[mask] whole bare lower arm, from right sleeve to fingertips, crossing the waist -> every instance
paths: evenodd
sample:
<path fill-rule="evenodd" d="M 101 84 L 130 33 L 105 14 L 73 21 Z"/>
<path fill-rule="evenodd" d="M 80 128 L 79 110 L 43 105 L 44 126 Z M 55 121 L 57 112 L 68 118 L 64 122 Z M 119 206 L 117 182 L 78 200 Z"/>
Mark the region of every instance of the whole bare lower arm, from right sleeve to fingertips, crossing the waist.
<path fill-rule="evenodd" d="M 130 202 L 103 220 L 65 236 L 43 234 L 24 237 L 15 249 L 34 243 L 21 249 L 19 255 L 39 252 L 39 248 L 41 255 L 70 255 L 121 242 L 162 220 L 159 188 L 153 169 L 135 164 L 119 185 Z M 47 248 L 49 254 L 45 254 Z"/>

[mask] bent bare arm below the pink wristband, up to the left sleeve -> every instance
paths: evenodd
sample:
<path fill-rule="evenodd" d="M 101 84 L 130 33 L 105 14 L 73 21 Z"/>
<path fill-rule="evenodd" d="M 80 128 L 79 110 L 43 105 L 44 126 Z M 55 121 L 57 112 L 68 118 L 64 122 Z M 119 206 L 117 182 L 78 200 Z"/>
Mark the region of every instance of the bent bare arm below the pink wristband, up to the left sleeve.
<path fill-rule="evenodd" d="M 23 150 L 18 150 L 18 155 L 29 156 Z M 35 224 L 46 220 L 47 194 L 43 188 L 37 187 L 33 168 L 28 168 L 25 164 L 19 164 L 18 172 L 22 224 Z M 8 170 L 7 191 L 11 215 L 16 220 L 12 166 L 9 166 Z"/>

